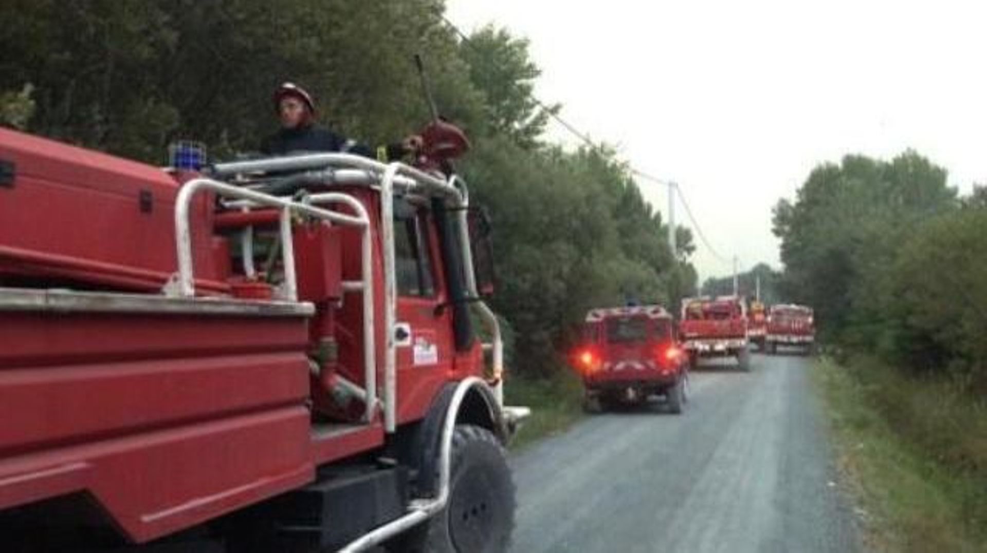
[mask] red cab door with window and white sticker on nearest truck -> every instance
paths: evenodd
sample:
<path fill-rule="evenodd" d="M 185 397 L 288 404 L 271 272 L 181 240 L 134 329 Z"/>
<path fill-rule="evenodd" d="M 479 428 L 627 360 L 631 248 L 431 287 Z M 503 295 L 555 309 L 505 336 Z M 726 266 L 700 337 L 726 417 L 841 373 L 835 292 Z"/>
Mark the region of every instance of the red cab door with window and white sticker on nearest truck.
<path fill-rule="evenodd" d="M 394 221 L 398 423 L 420 417 L 449 379 L 455 347 L 448 288 L 428 206 L 396 199 Z"/>

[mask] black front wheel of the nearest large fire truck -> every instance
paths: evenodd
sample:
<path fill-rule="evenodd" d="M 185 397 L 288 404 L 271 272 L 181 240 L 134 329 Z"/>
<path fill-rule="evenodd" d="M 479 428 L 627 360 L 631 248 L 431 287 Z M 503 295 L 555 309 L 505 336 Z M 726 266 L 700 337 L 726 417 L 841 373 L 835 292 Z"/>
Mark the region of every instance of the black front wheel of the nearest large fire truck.
<path fill-rule="evenodd" d="M 424 522 L 421 546 L 411 550 L 506 551 L 514 528 L 515 502 L 503 446 L 487 429 L 458 425 L 452 436 L 450 468 L 449 501 Z"/>

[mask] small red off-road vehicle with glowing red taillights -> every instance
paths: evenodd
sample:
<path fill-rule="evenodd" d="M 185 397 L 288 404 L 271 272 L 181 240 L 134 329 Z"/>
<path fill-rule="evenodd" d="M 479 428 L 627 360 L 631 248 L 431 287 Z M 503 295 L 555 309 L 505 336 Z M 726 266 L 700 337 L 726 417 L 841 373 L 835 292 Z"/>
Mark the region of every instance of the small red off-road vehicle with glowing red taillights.
<path fill-rule="evenodd" d="M 643 405 L 662 395 L 672 413 L 687 401 L 689 363 L 660 306 L 591 310 L 571 364 L 579 372 L 587 411 Z"/>

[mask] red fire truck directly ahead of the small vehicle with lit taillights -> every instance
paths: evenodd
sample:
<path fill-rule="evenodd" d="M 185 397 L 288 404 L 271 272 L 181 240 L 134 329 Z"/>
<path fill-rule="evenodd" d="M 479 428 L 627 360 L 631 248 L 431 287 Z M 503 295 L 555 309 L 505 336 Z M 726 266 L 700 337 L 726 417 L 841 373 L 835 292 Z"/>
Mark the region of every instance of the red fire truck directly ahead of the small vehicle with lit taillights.
<path fill-rule="evenodd" d="M 735 357 L 741 371 L 750 371 L 743 298 L 721 296 L 682 300 L 679 338 L 693 368 L 703 358 Z"/>

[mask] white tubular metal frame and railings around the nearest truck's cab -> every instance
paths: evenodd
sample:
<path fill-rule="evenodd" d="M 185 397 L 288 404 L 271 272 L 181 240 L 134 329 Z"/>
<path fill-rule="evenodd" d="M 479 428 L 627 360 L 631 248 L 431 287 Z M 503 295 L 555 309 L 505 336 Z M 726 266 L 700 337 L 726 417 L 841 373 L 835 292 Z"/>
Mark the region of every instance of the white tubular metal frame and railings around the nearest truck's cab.
<path fill-rule="evenodd" d="M 503 407 L 503 343 L 500 334 L 499 322 L 493 311 L 482 301 L 479 301 L 479 291 L 477 290 L 476 275 L 473 269 L 473 254 L 470 247 L 469 227 L 467 219 L 467 208 L 469 207 L 469 191 L 465 181 L 456 175 L 447 181 L 428 173 L 422 173 L 415 168 L 408 167 L 400 163 L 390 165 L 380 164 L 366 158 L 352 156 L 348 154 L 315 154 L 294 158 L 278 158 L 272 160 L 262 160 L 257 162 L 240 162 L 215 166 L 214 173 L 217 175 L 232 173 L 250 173 L 259 171 L 307 171 L 325 170 L 330 166 L 344 166 L 348 169 L 335 170 L 327 174 L 332 176 L 335 183 L 345 184 L 367 184 L 376 187 L 379 183 L 381 194 L 381 221 L 380 234 L 384 260 L 384 328 L 385 328 L 385 349 L 384 349 L 384 387 L 383 387 L 383 412 L 385 430 L 393 433 L 396 430 L 396 405 L 397 405 L 397 367 L 396 367 L 396 344 L 395 327 L 397 324 L 397 281 L 395 278 L 395 251 L 394 251 L 394 220 L 393 220 L 393 199 L 395 190 L 402 190 L 406 193 L 419 193 L 427 196 L 441 196 L 445 198 L 450 207 L 457 210 L 458 223 L 460 227 L 460 246 L 463 257 L 463 270 L 467 294 L 477 298 L 478 311 L 484 324 L 491 334 L 491 342 L 484 343 L 485 351 L 492 351 L 493 356 L 493 394 L 496 402 L 501 407 L 505 416 L 512 415 L 515 419 L 523 418 L 529 412 L 523 407 Z M 194 184 L 192 187 L 190 185 Z M 187 188 L 189 188 L 187 190 Z M 374 319 L 373 319 L 373 284 L 372 284 L 372 249 L 369 216 L 366 209 L 359 201 L 352 196 L 326 192 L 316 193 L 308 196 L 302 202 L 293 201 L 286 198 L 276 198 L 261 192 L 246 190 L 240 187 L 230 186 L 221 182 L 209 179 L 196 179 L 190 181 L 183 187 L 180 193 L 179 211 L 176 214 L 176 221 L 185 221 L 184 228 L 180 227 L 180 290 L 188 295 L 194 294 L 193 283 L 191 281 L 191 256 L 190 256 L 190 235 L 188 228 L 188 210 L 191 196 L 200 188 L 207 188 L 218 193 L 257 202 L 261 205 L 278 207 L 281 209 L 281 234 L 282 241 L 290 242 L 290 211 L 297 210 L 315 217 L 329 219 L 330 221 L 360 225 L 363 228 L 362 241 L 362 281 L 343 282 L 343 291 L 346 293 L 360 292 L 363 297 L 363 334 L 364 334 L 364 360 L 365 360 L 365 381 L 367 411 L 366 420 L 371 420 L 374 413 L 376 401 L 376 361 L 374 348 Z M 185 195 L 183 195 L 185 194 Z M 349 217 L 340 213 L 324 210 L 317 207 L 318 204 L 345 203 L 356 213 L 357 217 Z M 181 215 L 179 215 L 181 213 Z M 244 238 L 245 245 L 248 239 Z M 252 241 L 252 237 L 250 239 Z M 252 247 L 252 242 L 251 242 Z M 293 266 L 294 252 L 288 248 L 282 250 L 285 267 Z M 183 261 L 185 259 L 185 261 Z M 185 267 L 185 269 L 183 269 Z M 246 265 L 245 265 L 246 269 Z M 187 272 L 184 272 L 186 271 Z M 287 269 L 285 279 L 288 278 Z M 290 275 L 294 278 L 293 271 Z M 294 286 L 289 288 L 294 291 Z M 407 513 L 396 520 L 388 522 L 360 538 L 349 543 L 343 551 L 360 551 L 373 545 L 382 543 L 391 536 L 431 518 L 441 511 L 448 502 L 450 492 L 450 472 L 451 472 L 451 449 L 452 435 L 456 425 L 456 413 L 466 393 L 474 386 L 486 386 L 484 380 L 470 377 L 460 381 L 457 385 L 453 397 L 448 405 L 445 419 L 443 421 L 440 454 L 438 462 L 438 486 L 435 497 L 418 498 L 412 501 Z"/>

